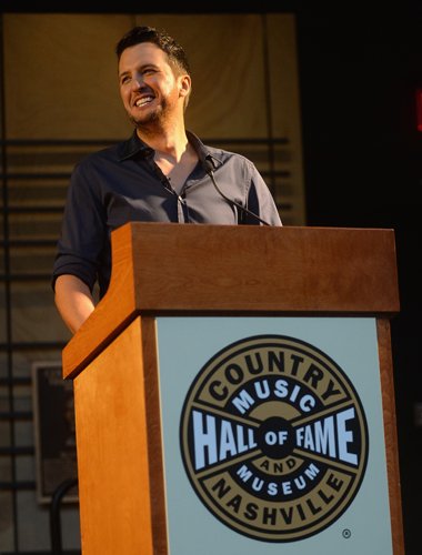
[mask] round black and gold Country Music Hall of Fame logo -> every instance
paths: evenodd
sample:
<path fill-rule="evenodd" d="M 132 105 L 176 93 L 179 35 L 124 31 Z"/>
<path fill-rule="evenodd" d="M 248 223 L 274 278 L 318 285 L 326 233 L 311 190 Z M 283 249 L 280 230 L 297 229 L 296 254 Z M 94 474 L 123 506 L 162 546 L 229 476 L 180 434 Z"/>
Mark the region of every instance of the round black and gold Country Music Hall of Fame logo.
<path fill-rule="evenodd" d="M 263 542 L 318 534 L 352 503 L 368 461 L 368 426 L 344 372 L 293 337 L 229 345 L 187 395 L 180 442 L 205 507 Z"/>

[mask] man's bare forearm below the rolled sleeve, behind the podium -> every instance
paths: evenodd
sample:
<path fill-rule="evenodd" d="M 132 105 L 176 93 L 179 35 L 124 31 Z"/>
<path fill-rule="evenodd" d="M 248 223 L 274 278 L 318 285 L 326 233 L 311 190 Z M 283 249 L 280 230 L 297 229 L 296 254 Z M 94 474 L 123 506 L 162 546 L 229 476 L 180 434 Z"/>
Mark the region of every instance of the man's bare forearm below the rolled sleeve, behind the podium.
<path fill-rule="evenodd" d="M 76 333 L 94 310 L 89 286 L 76 275 L 63 274 L 56 280 L 56 306 L 72 333 Z"/>

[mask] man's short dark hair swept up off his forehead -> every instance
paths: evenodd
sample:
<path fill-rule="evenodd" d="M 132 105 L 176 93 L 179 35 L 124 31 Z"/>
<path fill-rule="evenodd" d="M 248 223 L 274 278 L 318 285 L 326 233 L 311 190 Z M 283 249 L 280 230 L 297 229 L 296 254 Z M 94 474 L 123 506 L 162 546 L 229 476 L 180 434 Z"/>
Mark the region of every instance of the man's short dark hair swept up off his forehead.
<path fill-rule="evenodd" d="M 118 46 L 115 53 L 118 60 L 122 56 L 123 50 L 141 42 L 152 42 L 157 44 L 167 54 L 169 65 L 174 75 L 179 77 L 181 73 L 191 74 L 188 58 L 182 47 L 175 42 L 165 31 L 157 31 L 152 27 L 134 27 L 129 32 L 123 34 Z"/>

